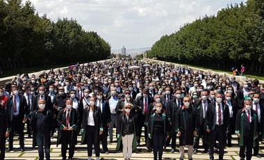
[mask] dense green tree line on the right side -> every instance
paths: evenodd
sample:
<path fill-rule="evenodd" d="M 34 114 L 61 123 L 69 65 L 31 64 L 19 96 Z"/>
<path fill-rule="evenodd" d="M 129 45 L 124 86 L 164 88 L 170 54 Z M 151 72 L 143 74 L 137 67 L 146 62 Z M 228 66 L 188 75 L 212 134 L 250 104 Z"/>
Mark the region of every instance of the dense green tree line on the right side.
<path fill-rule="evenodd" d="M 264 73 L 264 1 L 248 0 L 184 24 L 147 51 L 160 60 Z"/>

